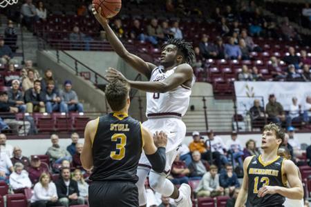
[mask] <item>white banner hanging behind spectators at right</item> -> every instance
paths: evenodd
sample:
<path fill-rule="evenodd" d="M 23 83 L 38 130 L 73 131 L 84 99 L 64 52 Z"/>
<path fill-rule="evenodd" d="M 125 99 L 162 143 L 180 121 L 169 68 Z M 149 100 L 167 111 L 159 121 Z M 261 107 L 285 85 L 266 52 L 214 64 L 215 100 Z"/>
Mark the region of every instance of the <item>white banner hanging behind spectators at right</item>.
<path fill-rule="evenodd" d="M 296 97 L 298 103 L 304 106 L 306 97 L 311 96 L 311 82 L 234 81 L 234 90 L 239 114 L 245 114 L 254 106 L 254 99 L 259 99 L 265 108 L 271 94 L 284 110 L 289 110 L 292 97 Z"/>

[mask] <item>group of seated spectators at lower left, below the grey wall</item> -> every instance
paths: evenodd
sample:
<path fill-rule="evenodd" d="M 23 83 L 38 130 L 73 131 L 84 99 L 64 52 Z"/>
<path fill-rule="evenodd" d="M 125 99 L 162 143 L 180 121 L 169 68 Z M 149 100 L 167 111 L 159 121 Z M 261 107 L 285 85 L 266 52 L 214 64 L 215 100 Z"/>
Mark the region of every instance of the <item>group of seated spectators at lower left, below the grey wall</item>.
<path fill-rule="evenodd" d="M 59 146 L 57 135 L 50 139 L 53 146 L 46 151 L 50 160 L 44 161 L 40 155 L 32 155 L 31 159 L 23 156 L 19 146 L 7 144 L 6 135 L 0 134 L 0 180 L 10 186 L 9 193 L 24 193 L 25 188 L 33 188 L 31 206 L 87 204 L 88 184 L 84 179 L 90 172 L 83 170 L 77 160 L 83 147 L 79 135 L 71 135 L 73 142 L 67 150 Z"/>

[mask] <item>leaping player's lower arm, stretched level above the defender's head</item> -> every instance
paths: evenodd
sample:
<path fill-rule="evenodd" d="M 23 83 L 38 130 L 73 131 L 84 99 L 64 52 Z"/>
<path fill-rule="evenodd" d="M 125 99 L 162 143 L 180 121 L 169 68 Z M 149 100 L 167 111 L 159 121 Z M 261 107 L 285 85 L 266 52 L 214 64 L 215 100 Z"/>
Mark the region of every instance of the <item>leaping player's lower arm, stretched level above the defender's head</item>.
<path fill-rule="evenodd" d="M 182 85 L 186 81 L 192 79 L 194 72 L 187 63 L 183 63 L 176 68 L 176 72 L 170 75 L 164 81 L 130 81 L 122 75 L 122 73 L 114 68 L 109 68 L 107 71 L 106 78 L 110 81 L 117 79 L 124 79 L 130 83 L 132 88 L 137 88 L 138 90 L 144 90 L 147 92 L 167 92 L 178 86 Z"/>

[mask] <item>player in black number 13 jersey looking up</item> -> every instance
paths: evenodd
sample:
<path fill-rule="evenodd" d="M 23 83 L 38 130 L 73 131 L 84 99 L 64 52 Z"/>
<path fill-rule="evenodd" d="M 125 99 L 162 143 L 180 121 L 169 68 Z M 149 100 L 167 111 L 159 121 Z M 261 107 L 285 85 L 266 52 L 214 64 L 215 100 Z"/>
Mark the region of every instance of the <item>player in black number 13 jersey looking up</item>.
<path fill-rule="evenodd" d="M 303 187 L 295 164 L 277 155 L 284 132 L 276 124 L 263 128 L 261 148 L 263 154 L 247 157 L 244 161 L 242 188 L 235 207 L 281 207 L 285 197 L 302 199 Z M 287 181 L 290 188 L 286 188 Z"/>

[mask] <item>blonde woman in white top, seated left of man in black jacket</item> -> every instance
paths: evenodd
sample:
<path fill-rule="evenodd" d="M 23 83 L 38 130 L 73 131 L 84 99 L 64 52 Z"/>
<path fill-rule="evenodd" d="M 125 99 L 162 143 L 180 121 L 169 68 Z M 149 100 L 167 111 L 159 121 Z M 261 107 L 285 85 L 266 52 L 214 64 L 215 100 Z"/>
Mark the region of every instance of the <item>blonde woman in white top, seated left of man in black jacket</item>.
<path fill-rule="evenodd" d="M 31 207 L 62 206 L 58 201 L 56 186 L 45 172 L 41 174 L 33 190 Z"/>

